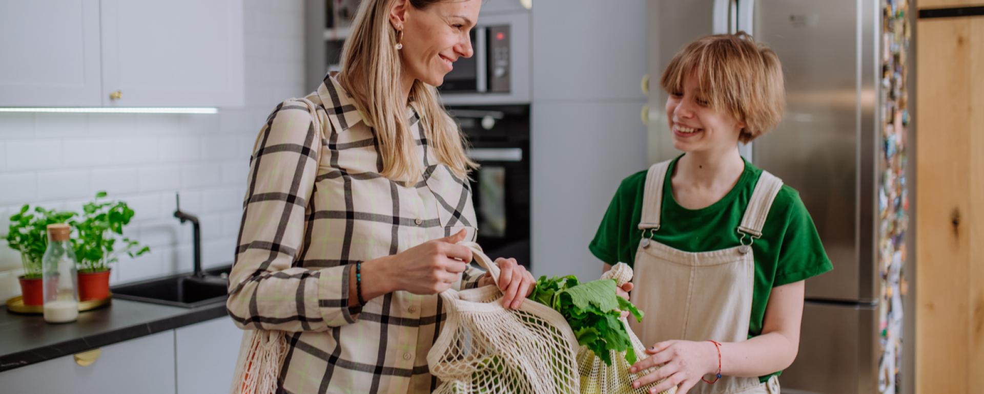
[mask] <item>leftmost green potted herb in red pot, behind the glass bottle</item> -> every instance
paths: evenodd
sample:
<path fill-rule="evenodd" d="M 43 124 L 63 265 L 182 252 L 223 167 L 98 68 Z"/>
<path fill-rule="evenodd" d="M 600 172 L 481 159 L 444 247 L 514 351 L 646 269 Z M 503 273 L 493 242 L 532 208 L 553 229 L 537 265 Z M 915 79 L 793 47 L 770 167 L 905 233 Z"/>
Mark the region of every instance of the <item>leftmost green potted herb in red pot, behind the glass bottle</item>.
<path fill-rule="evenodd" d="M 48 247 L 47 226 L 66 223 L 75 215 L 75 212 L 48 210 L 40 206 L 31 209 L 31 205 L 25 204 L 18 213 L 10 217 L 7 245 L 21 253 L 24 275 L 18 277 L 18 280 L 21 282 L 24 305 L 39 306 L 44 303 L 41 257 Z"/>

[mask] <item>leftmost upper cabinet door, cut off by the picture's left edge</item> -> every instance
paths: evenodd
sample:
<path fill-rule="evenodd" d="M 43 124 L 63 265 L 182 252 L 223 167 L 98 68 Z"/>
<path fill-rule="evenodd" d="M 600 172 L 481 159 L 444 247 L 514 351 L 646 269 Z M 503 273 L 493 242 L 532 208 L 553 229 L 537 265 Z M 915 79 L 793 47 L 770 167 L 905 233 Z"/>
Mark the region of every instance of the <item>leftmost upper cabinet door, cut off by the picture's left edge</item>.
<path fill-rule="evenodd" d="M 99 0 L 0 1 L 0 106 L 99 106 Z"/>

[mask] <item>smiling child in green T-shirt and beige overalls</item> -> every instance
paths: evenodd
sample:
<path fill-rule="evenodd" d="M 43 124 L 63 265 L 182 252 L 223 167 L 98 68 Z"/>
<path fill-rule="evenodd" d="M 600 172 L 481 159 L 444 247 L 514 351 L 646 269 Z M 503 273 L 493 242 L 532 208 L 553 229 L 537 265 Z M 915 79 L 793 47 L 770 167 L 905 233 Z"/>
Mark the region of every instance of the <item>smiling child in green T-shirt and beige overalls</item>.
<path fill-rule="evenodd" d="M 663 72 L 684 153 L 622 181 L 589 245 L 605 270 L 634 265 L 620 295 L 646 312 L 633 328 L 651 348 L 633 370 L 664 365 L 637 387 L 778 394 L 796 358 L 803 281 L 830 259 L 796 191 L 738 154 L 778 124 L 781 70 L 738 33 L 691 43 Z"/>

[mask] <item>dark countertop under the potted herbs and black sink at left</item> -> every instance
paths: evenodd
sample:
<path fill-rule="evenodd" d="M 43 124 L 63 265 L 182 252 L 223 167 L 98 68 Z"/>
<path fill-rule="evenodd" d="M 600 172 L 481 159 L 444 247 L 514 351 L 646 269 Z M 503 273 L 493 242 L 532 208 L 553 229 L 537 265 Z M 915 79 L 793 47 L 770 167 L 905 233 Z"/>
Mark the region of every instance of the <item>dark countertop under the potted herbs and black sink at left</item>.
<path fill-rule="evenodd" d="M 72 323 L 50 324 L 39 314 L 0 308 L 0 371 L 85 352 L 225 315 L 225 303 L 168 307 L 113 299 L 109 307 L 79 313 Z"/>

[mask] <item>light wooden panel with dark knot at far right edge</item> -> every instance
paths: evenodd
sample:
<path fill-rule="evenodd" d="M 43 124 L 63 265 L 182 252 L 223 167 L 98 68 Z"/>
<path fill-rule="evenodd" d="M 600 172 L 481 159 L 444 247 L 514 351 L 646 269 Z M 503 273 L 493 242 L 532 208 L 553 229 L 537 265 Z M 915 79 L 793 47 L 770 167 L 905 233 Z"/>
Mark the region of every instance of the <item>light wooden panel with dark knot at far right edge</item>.
<path fill-rule="evenodd" d="M 984 392 L 984 17 L 916 31 L 916 392 Z"/>

